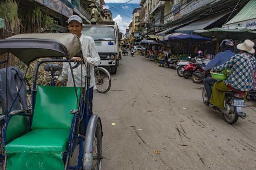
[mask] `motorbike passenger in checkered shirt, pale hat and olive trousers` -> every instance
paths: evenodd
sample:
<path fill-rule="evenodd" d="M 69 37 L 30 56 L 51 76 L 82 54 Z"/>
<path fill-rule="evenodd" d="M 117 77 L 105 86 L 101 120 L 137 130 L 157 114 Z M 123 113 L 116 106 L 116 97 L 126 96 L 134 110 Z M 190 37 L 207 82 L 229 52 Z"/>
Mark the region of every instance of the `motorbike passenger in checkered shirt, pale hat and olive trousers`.
<path fill-rule="evenodd" d="M 255 53 L 254 43 L 245 40 L 238 44 L 237 49 L 240 53 L 231 57 L 226 63 L 214 67 L 214 71 L 229 69 L 231 74 L 226 80 L 216 82 L 212 90 L 210 103 L 217 107 L 224 107 L 224 98 L 226 91 L 248 92 L 254 88 L 254 74 L 256 72 L 256 59 L 251 55 Z"/>

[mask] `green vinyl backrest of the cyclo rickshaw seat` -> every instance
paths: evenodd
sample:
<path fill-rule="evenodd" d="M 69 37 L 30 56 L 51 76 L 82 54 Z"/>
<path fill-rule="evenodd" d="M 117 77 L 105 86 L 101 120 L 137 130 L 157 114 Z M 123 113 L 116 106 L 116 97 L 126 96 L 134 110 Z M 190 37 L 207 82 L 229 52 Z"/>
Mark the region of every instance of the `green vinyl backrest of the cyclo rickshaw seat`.
<path fill-rule="evenodd" d="M 81 87 L 77 87 L 80 99 Z M 74 87 L 38 86 L 31 129 L 70 129 L 78 109 Z"/>

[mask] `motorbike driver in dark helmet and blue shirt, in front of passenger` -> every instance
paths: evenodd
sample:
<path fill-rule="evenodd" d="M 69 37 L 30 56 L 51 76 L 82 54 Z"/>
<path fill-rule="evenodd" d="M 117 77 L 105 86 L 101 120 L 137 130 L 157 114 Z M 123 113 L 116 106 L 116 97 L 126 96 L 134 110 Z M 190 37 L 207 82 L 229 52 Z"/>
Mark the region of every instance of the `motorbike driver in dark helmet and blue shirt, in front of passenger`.
<path fill-rule="evenodd" d="M 222 42 L 220 43 L 220 50 L 223 52 L 216 54 L 216 56 L 204 67 L 204 70 L 207 71 L 214 68 L 216 65 L 220 66 L 226 63 L 232 56 L 236 55 L 235 53 L 232 53 L 233 48 L 234 41 L 232 39 L 222 40 Z M 204 87 L 207 93 L 207 100 L 205 101 L 206 104 L 210 104 L 210 99 L 212 95 L 211 86 L 213 86 L 215 82 L 217 82 L 217 80 L 212 77 L 204 79 Z"/>

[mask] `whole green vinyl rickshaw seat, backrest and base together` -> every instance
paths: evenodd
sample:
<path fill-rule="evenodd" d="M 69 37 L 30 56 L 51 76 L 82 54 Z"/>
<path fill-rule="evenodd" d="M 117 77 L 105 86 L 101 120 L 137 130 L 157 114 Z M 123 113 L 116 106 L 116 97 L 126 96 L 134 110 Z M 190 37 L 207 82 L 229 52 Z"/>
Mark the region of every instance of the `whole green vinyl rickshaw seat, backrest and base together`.
<path fill-rule="evenodd" d="M 32 130 L 5 147 L 7 170 L 64 170 L 72 109 L 78 109 L 74 87 L 38 86 Z"/>

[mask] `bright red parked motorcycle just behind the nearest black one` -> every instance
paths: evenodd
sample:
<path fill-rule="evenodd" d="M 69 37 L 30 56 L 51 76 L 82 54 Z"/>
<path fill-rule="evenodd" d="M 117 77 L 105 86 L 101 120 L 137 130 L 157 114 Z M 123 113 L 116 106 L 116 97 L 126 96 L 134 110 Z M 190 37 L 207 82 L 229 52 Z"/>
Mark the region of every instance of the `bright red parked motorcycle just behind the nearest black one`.
<path fill-rule="evenodd" d="M 198 68 L 198 64 L 202 64 L 203 60 L 199 59 L 198 57 L 195 57 L 192 61 L 196 61 L 196 63 L 192 63 L 190 62 L 189 64 L 187 64 L 186 66 L 184 66 L 181 69 L 181 72 L 183 74 L 183 77 L 188 79 L 192 76 L 193 72 L 195 72 L 197 69 L 198 71 L 202 72 L 202 68 Z"/>

